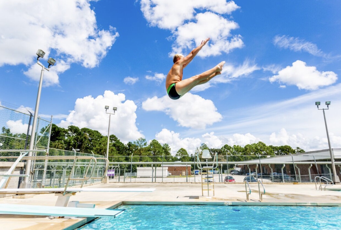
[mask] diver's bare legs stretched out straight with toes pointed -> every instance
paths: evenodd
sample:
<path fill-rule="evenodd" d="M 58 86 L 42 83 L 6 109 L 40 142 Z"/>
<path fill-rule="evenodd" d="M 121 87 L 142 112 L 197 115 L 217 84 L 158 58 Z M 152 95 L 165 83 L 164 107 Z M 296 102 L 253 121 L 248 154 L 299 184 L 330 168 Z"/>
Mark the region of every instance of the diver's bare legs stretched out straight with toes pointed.
<path fill-rule="evenodd" d="M 200 84 L 205 83 L 205 81 L 208 82 L 212 77 L 218 75 L 216 74 L 217 72 L 222 71 L 224 64 L 225 64 L 225 61 L 222 61 L 217 66 L 213 67 L 210 70 L 207 70 L 199 75 L 195 75 L 193 77 L 184 79 L 180 82 L 177 82 L 175 85 L 175 89 L 177 93 L 182 96 L 186 94 L 188 91 L 190 91 L 194 86 L 198 85 L 199 82 L 203 81 Z"/>

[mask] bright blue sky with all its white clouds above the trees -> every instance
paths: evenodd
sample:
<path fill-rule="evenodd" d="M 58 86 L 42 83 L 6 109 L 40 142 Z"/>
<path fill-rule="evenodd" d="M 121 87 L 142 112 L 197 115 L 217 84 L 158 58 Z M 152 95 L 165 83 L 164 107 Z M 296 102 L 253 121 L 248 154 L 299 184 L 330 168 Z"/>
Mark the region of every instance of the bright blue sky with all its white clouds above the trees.
<path fill-rule="evenodd" d="M 341 147 L 340 1 L 12 0 L 0 3 L 0 103 L 107 134 L 191 154 L 201 143 L 263 141 L 305 150 Z M 166 95 L 175 53 L 211 40 L 184 78 L 226 61 L 222 74 L 179 100 Z M 23 124 L 25 127 L 25 124 Z M 26 124 L 27 127 L 27 124 Z M 10 127 L 11 128 L 11 127 Z"/>

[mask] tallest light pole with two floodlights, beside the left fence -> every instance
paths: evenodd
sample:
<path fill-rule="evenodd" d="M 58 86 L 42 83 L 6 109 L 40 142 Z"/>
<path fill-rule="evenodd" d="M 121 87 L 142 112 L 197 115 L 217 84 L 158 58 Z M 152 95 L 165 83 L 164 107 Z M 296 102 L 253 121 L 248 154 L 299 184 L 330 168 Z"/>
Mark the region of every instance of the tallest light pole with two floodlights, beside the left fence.
<path fill-rule="evenodd" d="M 39 112 L 39 103 L 40 103 L 40 95 L 42 91 L 42 85 L 43 85 L 43 76 L 44 76 L 44 70 L 50 71 L 50 67 L 53 66 L 56 63 L 56 60 L 53 58 L 49 58 L 47 60 L 48 67 L 45 68 L 45 66 L 39 62 L 40 58 L 43 58 L 45 55 L 45 52 L 42 51 L 41 49 L 38 49 L 36 55 L 37 57 L 37 64 L 42 67 L 41 73 L 40 73 L 40 80 L 39 80 L 39 87 L 38 87 L 38 95 L 37 95 L 37 100 L 35 103 L 35 109 L 34 109 L 34 116 L 33 116 L 33 124 L 32 124 L 32 131 L 31 131 L 31 139 L 30 139 L 30 145 L 29 145 L 29 150 L 34 150 L 34 141 L 35 141 L 35 128 L 36 128 L 36 123 L 38 119 L 38 112 Z M 28 153 L 28 156 L 32 156 L 32 152 Z M 31 160 L 26 161 L 26 169 L 25 169 L 25 174 L 30 175 L 31 171 Z M 24 179 L 24 188 L 30 188 L 31 185 L 29 184 L 29 177 L 25 177 Z"/>

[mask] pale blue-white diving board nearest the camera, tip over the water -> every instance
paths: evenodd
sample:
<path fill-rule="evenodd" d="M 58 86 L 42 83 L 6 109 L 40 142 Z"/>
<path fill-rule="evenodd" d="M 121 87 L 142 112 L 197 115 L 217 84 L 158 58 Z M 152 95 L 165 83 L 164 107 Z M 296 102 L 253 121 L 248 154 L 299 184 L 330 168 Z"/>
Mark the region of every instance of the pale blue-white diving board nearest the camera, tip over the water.
<path fill-rule="evenodd" d="M 38 216 L 116 217 L 124 209 L 89 209 L 81 207 L 57 207 L 42 205 L 0 204 L 0 214 Z"/>

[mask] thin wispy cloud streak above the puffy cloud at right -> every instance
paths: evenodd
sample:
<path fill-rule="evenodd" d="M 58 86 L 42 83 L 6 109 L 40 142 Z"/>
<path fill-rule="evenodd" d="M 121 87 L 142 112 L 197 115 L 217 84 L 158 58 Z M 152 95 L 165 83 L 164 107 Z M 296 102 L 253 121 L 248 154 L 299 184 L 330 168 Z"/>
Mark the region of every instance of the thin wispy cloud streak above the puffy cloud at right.
<path fill-rule="evenodd" d="M 273 44 L 280 48 L 290 49 L 295 52 L 308 52 L 311 55 L 323 57 L 325 54 L 317 48 L 317 45 L 311 42 L 307 42 L 304 39 L 289 37 L 287 35 L 276 35 L 273 38 Z"/>

